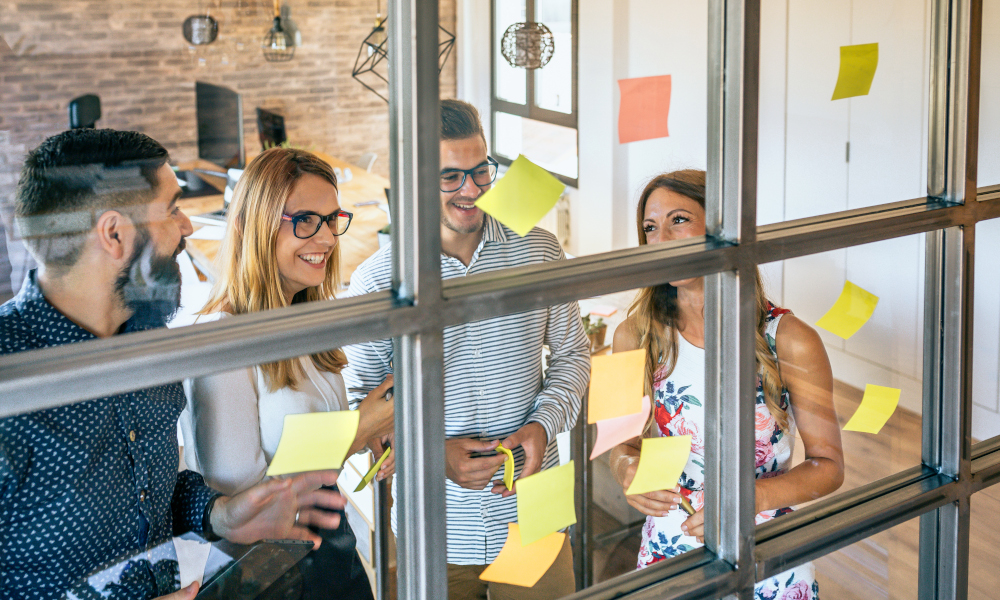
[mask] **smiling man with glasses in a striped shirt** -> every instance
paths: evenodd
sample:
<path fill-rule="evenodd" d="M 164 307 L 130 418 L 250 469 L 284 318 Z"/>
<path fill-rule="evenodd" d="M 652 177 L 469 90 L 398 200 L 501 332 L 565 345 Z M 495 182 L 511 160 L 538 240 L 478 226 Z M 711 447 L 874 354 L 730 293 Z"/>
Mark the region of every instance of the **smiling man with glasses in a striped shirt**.
<path fill-rule="evenodd" d="M 520 237 L 475 206 L 496 175 L 497 162 L 487 156 L 478 111 L 459 100 L 442 101 L 442 278 L 564 258 L 551 233 L 536 227 Z M 351 275 L 349 295 L 391 289 L 390 246 Z M 543 345 L 550 350 L 545 373 Z M 576 302 L 445 329 L 449 598 L 485 600 L 487 588 L 493 600 L 559 598 L 575 591 L 568 541 L 530 589 L 487 585 L 479 575 L 503 548 L 507 523 L 517 521 L 516 484 L 508 490 L 502 481 L 492 481 L 505 458 L 496 453 L 497 444 L 514 451 L 518 478 L 558 464 L 556 434 L 576 423 L 590 376 L 589 349 Z M 348 388 L 372 389 L 389 374 L 391 340 L 345 351 Z M 395 531 L 395 504 L 392 526 Z"/>

